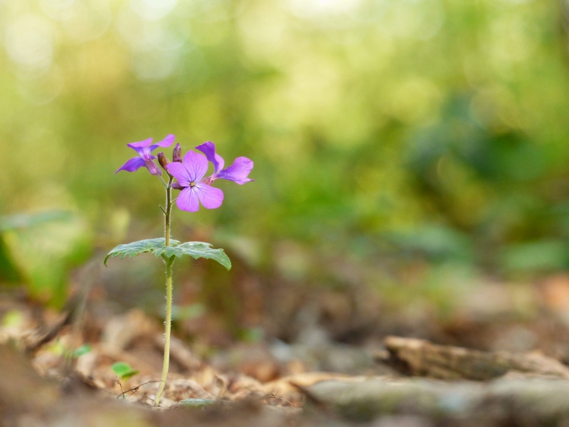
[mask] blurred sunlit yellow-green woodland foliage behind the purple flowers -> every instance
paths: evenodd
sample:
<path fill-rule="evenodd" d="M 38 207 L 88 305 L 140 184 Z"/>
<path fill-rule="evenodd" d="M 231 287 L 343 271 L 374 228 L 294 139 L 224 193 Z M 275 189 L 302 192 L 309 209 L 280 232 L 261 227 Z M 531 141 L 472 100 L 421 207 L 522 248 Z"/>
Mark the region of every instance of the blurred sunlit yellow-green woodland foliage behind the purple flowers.
<path fill-rule="evenodd" d="M 169 133 L 254 160 L 173 231 L 253 270 L 565 270 L 565 6 L 0 0 L 0 276 L 60 304 L 73 266 L 159 237 L 159 181 L 113 173 Z"/>

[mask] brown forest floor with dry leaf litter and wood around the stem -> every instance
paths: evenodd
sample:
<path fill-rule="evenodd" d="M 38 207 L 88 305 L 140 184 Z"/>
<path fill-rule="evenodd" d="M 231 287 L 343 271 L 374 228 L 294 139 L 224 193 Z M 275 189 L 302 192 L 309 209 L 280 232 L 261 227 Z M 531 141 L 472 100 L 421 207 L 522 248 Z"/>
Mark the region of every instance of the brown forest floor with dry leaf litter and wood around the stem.
<path fill-rule="evenodd" d="M 265 336 L 230 339 L 207 315 L 178 325 L 159 406 L 157 317 L 96 287 L 64 310 L 6 293 L 0 425 L 569 426 L 569 276 L 463 289 L 444 316 L 364 288 L 302 289 L 257 295 Z"/>

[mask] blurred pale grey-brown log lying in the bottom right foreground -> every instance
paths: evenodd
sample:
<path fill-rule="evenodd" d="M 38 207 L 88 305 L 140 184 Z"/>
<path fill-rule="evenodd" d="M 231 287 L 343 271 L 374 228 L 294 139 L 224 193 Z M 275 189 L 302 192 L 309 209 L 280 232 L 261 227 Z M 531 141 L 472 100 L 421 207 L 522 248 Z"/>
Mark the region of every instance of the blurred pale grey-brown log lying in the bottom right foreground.
<path fill-rule="evenodd" d="M 565 379 L 510 379 L 489 383 L 381 378 L 321 381 L 309 402 L 353 421 L 413 415 L 445 426 L 560 426 L 569 420 Z M 564 424 L 563 424 L 564 425 Z"/>

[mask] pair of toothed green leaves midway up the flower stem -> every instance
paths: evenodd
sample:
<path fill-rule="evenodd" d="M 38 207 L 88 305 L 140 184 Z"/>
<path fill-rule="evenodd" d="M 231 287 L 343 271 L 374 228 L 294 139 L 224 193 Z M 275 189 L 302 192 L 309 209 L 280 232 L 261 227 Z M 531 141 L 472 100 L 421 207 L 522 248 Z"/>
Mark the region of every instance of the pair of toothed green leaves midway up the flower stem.
<path fill-rule="evenodd" d="M 164 246 L 164 238 L 151 238 L 148 240 L 137 241 L 132 243 L 125 243 L 119 245 L 105 257 L 105 265 L 110 257 L 121 255 L 121 259 L 129 255 L 130 258 L 138 255 L 139 253 L 154 253 L 156 256 L 162 256 L 166 259 L 172 257 L 181 258 L 184 255 L 189 255 L 194 259 L 209 258 L 216 260 L 218 263 L 228 270 L 231 269 L 231 261 L 225 255 L 223 249 L 213 249 L 210 243 L 204 242 L 186 242 L 180 243 L 176 240 L 170 241 L 170 246 Z"/>

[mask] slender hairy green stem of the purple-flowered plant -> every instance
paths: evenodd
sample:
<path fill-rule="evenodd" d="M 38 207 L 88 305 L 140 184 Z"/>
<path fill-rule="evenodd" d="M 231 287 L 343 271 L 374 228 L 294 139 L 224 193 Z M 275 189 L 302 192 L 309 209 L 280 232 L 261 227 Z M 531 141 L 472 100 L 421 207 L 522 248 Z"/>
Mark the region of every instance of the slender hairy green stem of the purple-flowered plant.
<path fill-rule="evenodd" d="M 164 211 L 164 245 L 170 246 L 170 213 L 172 211 L 172 176 L 166 186 L 166 211 Z M 162 377 L 160 379 L 160 386 L 156 393 L 154 405 L 158 406 L 164 387 L 166 386 L 166 377 L 168 376 L 168 368 L 170 365 L 170 332 L 172 324 L 172 264 L 174 264 L 174 256 L 165 259 L 166 262 L 166 321 L 164 322 L 164 365 L 162 366 Z"/>

